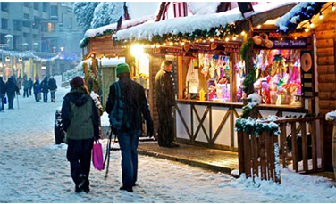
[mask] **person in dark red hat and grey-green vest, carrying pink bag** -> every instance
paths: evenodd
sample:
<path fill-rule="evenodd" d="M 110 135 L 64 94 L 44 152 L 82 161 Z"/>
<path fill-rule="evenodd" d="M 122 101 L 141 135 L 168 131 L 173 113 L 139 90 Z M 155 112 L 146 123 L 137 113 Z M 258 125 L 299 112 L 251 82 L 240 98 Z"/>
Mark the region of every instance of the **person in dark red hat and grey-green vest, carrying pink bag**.
<path fill-rule="evenodd" d="M 75 192 L 88 193 L 91 150 L 94 139 L 99 139 L 99 116 L 83 78 L 72 78 L 71 91 L 63 100 L 62 119 L 63 130 L 67 133 L 66 157 L 70 162 Z"/>

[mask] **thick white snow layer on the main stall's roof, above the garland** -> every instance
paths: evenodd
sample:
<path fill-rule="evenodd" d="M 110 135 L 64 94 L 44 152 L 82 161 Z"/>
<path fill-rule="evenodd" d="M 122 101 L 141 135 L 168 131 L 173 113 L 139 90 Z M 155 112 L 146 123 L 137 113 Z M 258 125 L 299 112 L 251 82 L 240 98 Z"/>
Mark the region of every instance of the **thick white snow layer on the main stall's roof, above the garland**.
<path fill-rule="evenodd" d="M 253 8 L 255 12 L 253 15 L 260 12 L 267 12 L 288 4 L 293 4 L 292 2 L 286 3 L 269 3 L 269 4 L 258 4 Z M 209 30 L 211 28 L 216 28 L 219 26 L 225 27 L 235 21 L 242 20 L 243 17 L 239 8 L 232 9 L 227 12 L 219 12 L 208 15 L 195 15 L 176 19 L 163 20 L 153 23 L 146 23 L 130 29 L 123 29 L 118 31 L 113 35 L 116 40 L 152 40 L 155 36 L 163 36 L 165 34 L 177 35 L 179 33 L 192 33 L 193 31 Z"/>

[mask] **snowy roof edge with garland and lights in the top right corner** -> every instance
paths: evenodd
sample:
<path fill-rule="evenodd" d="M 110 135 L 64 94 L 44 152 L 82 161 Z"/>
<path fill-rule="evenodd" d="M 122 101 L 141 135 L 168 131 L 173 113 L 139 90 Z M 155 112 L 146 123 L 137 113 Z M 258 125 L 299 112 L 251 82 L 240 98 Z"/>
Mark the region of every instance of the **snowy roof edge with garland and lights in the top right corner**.
<path fill-rule="evenodd" d="M 332 2 L 300 2 L 290 12 L 277 20 L 276 26 L 284 34 L 295 32 L 299 28 L 314 29 L 318 24 L 327 18 L 315 18 L 323 13 L 328 15 L 332 12 Z M 314 20 L 313 20 L 314 19 Z M 310 22 L 309 22 L 310 21 Z M 309 22 L 309 24 L 307 24 Z M 305 26 L 305 24 L 307 24 Z M 313 25 L 313 26 L 312 26 Z"/>

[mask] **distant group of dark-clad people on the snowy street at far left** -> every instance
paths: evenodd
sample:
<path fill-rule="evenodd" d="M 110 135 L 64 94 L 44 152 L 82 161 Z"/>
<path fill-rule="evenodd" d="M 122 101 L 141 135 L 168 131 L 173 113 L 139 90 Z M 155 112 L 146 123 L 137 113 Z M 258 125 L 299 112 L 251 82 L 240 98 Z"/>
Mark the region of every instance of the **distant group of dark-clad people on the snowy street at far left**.
<path fill-rule="evenodd" d="M 0 111 L 4 111 L 4 104 L 8 103 L 8 109 L 13 109 L 13 101 L 16 95 L 20 95 L 21 86 L 23 85 L 23 97 L 31 96 L 31 90 L 34 90 L 35 101 L 39 102 L 40 93 L 43 93 L 43 101 L 47 102 L 47 95 L 50 91 L 51 102 L 55 102 L 55 92 L 57 90 L 57 84 L 55 78 L 51 76 L 49 79 L 45 77 L 41 83 L 39 83 L 38 76 L 35 78 L 35 83 L 32 79 L 27 79 L 25 75 L 23 81 L 21 76 L 15 78 L 11 76 L 7 82 L 4 82 L 4 78 L 0 77 Z M 7 97 L 5 97 L 7 94 Z"/>

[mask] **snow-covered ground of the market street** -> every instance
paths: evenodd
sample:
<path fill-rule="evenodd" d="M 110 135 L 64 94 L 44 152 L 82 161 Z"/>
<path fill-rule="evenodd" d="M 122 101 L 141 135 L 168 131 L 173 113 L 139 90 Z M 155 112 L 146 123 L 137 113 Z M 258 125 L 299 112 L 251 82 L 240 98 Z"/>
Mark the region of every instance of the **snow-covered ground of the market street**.
<path fill-rule="evenodd" d="M 65 144 L 55 145 L 55 103 L 20 97 L 20 109 L 0 113 L 0 202 L 335 202 L 336 188 L 321 177 L 281 171 L 281 185 L 234 179 L 197 167 L 139 156 L 139 186 L 119 191 L 120 151 L 111 152 L 110 173 L 91 166 L 91 192 L 75 193 Z M 50 101 L 50 99 L 49 99 Z M 103 141 L 105 144 L 106 141 Z M 104 145 L 105 148 L 105 145 Z"/>

